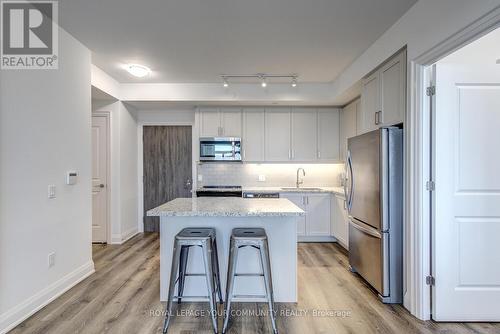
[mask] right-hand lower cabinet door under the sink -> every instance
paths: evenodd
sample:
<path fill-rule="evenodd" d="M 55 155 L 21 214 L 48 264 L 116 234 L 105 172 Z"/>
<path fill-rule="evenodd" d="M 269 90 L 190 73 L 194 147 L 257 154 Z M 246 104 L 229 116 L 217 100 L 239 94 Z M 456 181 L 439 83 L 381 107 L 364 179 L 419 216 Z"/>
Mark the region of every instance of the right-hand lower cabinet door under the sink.
<path fill-rule="evenodd" d="M 306 232 L 308 236 L 330 236 L 330 194 L 306 196 Z"/>

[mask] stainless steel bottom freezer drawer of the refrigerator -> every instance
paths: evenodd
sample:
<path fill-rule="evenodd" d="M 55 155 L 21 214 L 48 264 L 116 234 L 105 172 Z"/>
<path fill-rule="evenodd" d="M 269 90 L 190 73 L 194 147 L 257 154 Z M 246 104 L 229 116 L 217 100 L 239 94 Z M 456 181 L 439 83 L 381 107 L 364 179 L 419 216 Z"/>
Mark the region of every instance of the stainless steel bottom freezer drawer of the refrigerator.
<path fill-rule="evenodd" d="M 388 233 L 355 220 L 349 222 L 349 264 L 381 296 L 389 295 L 388 248 Z"/>

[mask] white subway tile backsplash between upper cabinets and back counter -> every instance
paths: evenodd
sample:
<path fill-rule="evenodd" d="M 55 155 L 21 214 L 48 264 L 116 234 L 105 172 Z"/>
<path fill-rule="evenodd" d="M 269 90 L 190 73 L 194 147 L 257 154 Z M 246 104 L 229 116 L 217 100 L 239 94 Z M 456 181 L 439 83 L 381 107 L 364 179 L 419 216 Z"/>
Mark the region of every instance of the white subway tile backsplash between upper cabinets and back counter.
<path fill-rule="evenodd" d="M 255 164 L 255 163 L 203 163 L 198 165 L 202 181 L 198 186 L 241 185 L 244 187 L 295 186 L 297 168 L 306 171 L 305 187 L 340 186 L 343 164 Z M 265 181 L 259 181 L 259 176 Z"/>

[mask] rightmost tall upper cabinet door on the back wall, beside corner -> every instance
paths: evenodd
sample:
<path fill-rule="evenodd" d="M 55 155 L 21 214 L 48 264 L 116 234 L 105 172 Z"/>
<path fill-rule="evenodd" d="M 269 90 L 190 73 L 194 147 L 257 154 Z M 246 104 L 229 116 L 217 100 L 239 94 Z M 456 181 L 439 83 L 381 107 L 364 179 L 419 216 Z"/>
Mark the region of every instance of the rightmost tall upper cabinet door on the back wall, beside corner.
<path fill-rule="evenodd" d="M 340 160 L 340 112 L 318 110 L 318 160 Z"/>

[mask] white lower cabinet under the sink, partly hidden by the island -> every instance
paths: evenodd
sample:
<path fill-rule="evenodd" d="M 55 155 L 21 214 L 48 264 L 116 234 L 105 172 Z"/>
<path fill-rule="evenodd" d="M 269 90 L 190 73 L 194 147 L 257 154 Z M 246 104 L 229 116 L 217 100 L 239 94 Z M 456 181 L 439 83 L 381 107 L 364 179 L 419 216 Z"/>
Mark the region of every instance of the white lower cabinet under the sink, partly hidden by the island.
<path fill-rule="evenodd" d="M 306 212 L 297 223 L 299 241 L 329 241 L 330 231 L 330 197 L 328 193 L 281 193 Z M 333 239 L 332 239 L 333 240 Z"/>

